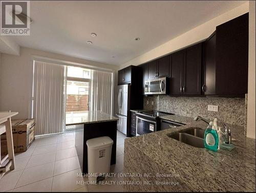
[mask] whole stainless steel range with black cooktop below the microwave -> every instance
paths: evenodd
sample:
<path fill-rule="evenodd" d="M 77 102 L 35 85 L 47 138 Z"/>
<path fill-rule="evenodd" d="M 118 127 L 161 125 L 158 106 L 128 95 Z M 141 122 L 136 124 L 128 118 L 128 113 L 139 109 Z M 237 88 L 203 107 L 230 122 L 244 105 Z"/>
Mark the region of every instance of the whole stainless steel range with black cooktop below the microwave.
<path fill-rule="evenodd" d="M 172 113 L 164 113 L 161 111 L 144 111 L 136 113 L 136 135 L 143 135 L 160 130 L 159 116 L 174 115 Z"/>

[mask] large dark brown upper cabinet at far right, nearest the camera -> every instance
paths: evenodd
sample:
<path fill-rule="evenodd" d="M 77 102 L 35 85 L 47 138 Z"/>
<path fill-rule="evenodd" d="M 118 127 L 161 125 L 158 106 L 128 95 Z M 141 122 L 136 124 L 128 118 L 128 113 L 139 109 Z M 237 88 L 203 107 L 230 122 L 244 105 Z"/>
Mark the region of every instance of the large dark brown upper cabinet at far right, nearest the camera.
<path fill-rule="evenodd" d="M 244 97 L 248 87 L 248 13 L 217 26 L 205 41 L 204 95 Z"/>

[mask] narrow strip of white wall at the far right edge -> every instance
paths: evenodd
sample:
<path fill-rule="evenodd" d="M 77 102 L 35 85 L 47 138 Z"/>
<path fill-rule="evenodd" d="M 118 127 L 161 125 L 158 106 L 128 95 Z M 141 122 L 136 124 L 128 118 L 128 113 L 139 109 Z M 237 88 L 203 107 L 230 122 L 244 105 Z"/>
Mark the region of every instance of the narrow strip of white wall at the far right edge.
<path fill-rule="evenodd" d="M 255 139 L 255 1 L 249 2 L 247 137 Z"/>

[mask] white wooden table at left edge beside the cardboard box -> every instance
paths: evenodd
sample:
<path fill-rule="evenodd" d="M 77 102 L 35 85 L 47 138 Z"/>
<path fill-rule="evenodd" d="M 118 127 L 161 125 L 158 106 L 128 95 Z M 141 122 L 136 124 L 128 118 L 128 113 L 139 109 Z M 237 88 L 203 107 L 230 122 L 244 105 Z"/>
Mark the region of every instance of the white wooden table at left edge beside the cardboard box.
<path fill-rule="evenodd" d="M 8 159 L 11 160 L 10 169 L 14 169 L 14 167 L 15 167 L 11 117 L 13 117 L 14 115 L 17 115 L 17 114 L 18 114 L 18 112 L 0 112 L 0 124 L 4 123 L 4 125 L 5 125 L 5 128 L 2 127 L 0 129 L 0 134 L 2 134 L 4 132 L 2 130 L 6 131 L 6 141 L 7 141 L 7 149 L 8 149 L 7 156 L 8 156 Z M 6 158 L 4 158 L 4 159 L 6 159 Z"/>

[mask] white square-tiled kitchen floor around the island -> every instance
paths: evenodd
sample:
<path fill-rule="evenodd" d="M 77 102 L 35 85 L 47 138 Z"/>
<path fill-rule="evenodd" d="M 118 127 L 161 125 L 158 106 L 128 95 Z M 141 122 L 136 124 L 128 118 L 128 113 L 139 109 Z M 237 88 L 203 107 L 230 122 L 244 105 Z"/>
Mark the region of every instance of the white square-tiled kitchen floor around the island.
<path fill-rule="evenodd" d="M 123 170 L 126 137 L 117 132 L 116 164 L 112 173 Z M 79 185 L 81 173 L 75 149 L 75 134 L 38 137 L 24 153 L 15 154 L 15 169 L 0 180 L 0 191 L 123 191 L 121 185 Z M 107 181 L 117 181 L 109 178 Z"/>

